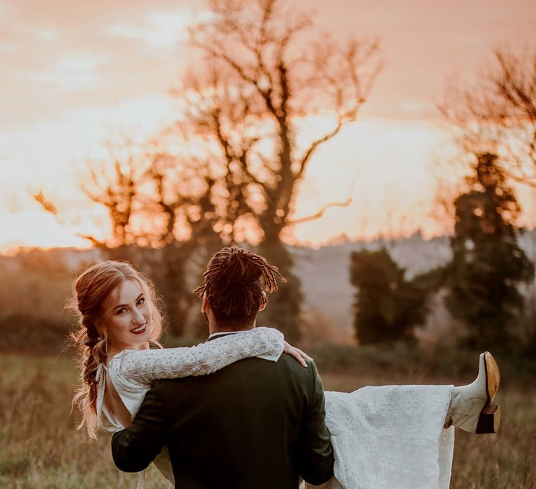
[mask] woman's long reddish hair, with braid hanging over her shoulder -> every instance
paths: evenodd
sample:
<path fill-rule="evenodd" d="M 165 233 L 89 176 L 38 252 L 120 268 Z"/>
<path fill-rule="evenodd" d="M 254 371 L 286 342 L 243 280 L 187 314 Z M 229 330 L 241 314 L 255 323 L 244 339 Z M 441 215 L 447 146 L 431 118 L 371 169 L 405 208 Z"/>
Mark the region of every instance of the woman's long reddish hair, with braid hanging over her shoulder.
<path fill-rule="evenodd" d="M 129 263 L 105 261 L 91 266 L 73 282 L 68 308 L 77 316 L 78 329 L 71 333 L 80 367 L 80 386 L 73 397 L 82 413 L 78 428 L 85 427 L 90 438 L 96 438 L 98 414 L 96 379 L 98 365 L 107 360 L 107 328 L 103 303 L 125 280 L 140 285 L 151 307 L 151 337 L 156 346 L 162 333 L 162 316 L 156 307 L 156 293 L 149 277 L 137 272 Z"/>

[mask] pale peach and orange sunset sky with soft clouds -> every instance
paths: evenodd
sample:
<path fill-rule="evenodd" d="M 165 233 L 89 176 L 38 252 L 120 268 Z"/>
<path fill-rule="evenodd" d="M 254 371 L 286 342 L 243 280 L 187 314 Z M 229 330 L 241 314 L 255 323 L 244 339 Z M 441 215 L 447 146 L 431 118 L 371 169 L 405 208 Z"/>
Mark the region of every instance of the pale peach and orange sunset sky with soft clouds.
<path fill-rule="evenodd" d="M 296 226 L 297 242 L 345 233 L 442 233 L 432 163 L 454 154 L 435 103 L 452 79 L 471 80 L 498 45 L 536 44 L 534 0 L 288 0 L 336 36 L 380 36 L 385 68 L 359 120 L 315 155 L 297 217 L 327 201 L 345 208 Z M 177 115 L 167 91 L 195 54 L 186 27 L 203 1 L 0 0 L 0 251 L 87 246 L 105 238 L 103 209 L 80 191 L 88 159 L 121 133 L 144 140 Z M 33 194 L 58 207 L 45 214 Z M 521 224 L 536 196 L 519 189 Z"/>

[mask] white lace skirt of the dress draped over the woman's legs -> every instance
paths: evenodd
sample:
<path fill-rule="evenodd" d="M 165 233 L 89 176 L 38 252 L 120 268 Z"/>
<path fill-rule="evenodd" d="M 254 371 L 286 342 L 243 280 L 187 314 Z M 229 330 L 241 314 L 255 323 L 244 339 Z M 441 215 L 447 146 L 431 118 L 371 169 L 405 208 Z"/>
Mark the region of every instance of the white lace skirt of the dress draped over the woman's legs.
<path fill-rule="evenodd" d="M 443 429 L 452 386 L 326 392 L 332 489 L 447 489 L 454 428 Z"/>

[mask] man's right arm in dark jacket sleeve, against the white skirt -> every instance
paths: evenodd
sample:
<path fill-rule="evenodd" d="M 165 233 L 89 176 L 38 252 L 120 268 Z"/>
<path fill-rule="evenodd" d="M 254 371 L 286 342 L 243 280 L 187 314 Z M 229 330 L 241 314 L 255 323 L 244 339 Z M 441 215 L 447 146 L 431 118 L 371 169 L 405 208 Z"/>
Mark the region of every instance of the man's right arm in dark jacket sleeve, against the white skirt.
<path fill-rule="evenodd" d="M 333 476 L 332 436 L 325 422 L 322 381 L 313 362 L 308 362 L 312 387 L 308 411 L 301 421 L 297 439 L 298 470 L 309 484 L 320 486 Z"/>

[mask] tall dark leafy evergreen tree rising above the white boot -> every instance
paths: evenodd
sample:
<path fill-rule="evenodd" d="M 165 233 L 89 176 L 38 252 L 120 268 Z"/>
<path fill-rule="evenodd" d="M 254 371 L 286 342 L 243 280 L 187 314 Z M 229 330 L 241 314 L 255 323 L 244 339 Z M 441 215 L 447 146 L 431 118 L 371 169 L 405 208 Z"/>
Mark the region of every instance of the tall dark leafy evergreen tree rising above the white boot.
<path fill-rule="evenodd" d="M 469 191 L 456 198 L 445 303 L 467 327 L 468 346 L 505 346 L 524 299 L 518 289 L 534 265 L 517 242 L 521 211 L 495 154 L 479 154 Z"/>

